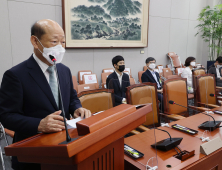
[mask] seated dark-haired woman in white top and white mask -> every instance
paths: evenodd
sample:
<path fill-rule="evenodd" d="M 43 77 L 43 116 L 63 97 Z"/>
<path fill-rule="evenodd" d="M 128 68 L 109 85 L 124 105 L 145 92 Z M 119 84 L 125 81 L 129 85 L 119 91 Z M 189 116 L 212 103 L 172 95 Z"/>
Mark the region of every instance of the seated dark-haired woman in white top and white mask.
<path fill-rule="evenodd" d="M 193 93 L 192 69 L 196 66 L 196 59 L 194 57 L 188 57 L 184 65 L 186 68 L 183 70 L 181 77 L 187 79 L 188 93 Z"/>

